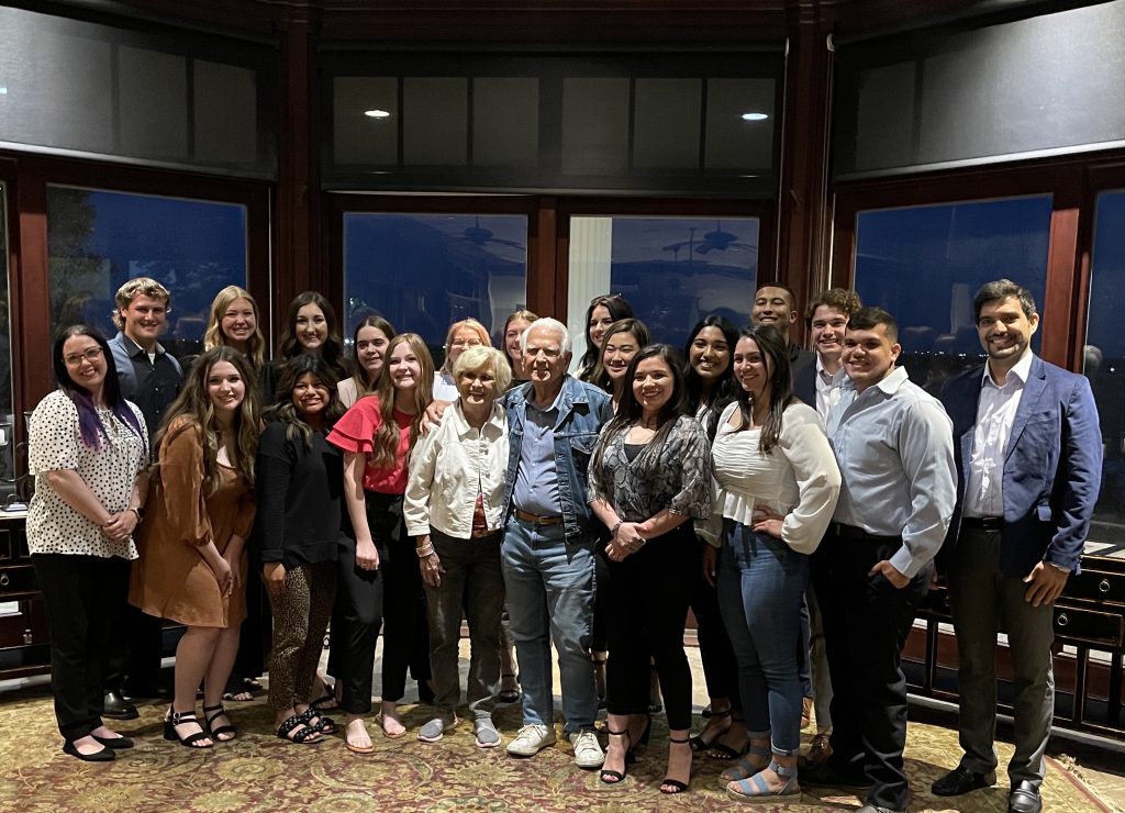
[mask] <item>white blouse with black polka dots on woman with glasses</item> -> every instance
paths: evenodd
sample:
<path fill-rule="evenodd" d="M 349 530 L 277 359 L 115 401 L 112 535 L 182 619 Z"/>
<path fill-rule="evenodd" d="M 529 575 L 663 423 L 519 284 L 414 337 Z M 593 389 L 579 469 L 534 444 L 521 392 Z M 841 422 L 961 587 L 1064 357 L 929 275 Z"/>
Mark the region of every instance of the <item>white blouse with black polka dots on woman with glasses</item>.
<path fill-rule="evenodd" d="M 112 542 L 101 529 L 70 507 L 47 481 L 47 472 L 71 469 L 90 487 L 110 514 L 125 511 L 137 475 L 148 462 L 147 431 L 141 410 L 141 436 L 110 409 L 98 409 L 108 441 L 91 449 L 79 434 L 78 406 L 55 390 L 32 413 L 28 425 L 28 469 L 35 475 L 35 496 L 27 511 L 27 549 L 32 553 L 79 553 L 136 559 L 133 539 Z"/>

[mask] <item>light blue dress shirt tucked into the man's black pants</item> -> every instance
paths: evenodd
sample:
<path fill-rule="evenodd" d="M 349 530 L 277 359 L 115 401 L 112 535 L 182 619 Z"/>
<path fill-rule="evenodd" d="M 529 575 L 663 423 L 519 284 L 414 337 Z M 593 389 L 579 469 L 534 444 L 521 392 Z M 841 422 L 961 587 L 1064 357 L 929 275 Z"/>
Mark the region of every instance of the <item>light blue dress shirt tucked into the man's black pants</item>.
<path fill-rule="evenodd" d="M 890 562 L 914 578 L 936 554 L 956 504 L 953 422 L 897 368 L 856 394 L 849 379 L 828 418 L 844 485 L 832 520 L 902 536 Z"/>

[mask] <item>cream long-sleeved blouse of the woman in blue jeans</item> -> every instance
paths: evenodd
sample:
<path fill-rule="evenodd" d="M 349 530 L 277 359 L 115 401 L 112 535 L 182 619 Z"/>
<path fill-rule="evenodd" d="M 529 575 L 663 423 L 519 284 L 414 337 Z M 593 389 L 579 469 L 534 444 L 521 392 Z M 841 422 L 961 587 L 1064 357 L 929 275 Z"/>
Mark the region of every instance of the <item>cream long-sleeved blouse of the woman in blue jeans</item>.
<path fill-rule="evenodd" d="M 736 430 L 730 404 L 719 418 L 712 448 L 716 499 L 703 535 L 719 544 L 722 520 L 754 525 L 754 507 L 764 505 L 785 517 L 782 541 L 798 553 L 812 553 L 828 530 L 840 490 L 825 425 L 817 412 L 800 401 L 785 408 L 781 436 L 767 453 L 758 451 L 762 431 Z"/>

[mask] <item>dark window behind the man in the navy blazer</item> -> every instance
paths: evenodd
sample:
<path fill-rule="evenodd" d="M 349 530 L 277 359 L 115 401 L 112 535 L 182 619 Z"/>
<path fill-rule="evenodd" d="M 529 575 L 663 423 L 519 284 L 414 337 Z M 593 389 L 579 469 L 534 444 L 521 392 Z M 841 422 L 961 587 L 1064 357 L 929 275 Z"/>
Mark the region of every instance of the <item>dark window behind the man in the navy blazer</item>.
<path fill-rule="evenodd" d="M 899 363 L 916 383 L 937 395 L 947 377 L 982 363 L 973 295 L 986 282 L 1011 279 L 1043 310 L 1051 205 L 1037 196 L 856 215 L 855 289 L 898 319 Z"/>

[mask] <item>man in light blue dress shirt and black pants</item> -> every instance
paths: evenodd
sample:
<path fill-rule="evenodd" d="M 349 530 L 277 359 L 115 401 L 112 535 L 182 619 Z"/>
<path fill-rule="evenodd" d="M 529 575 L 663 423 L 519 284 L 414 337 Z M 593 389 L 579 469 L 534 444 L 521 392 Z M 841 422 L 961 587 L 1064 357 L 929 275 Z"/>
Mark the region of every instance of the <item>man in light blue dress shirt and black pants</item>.
<path fill-rule="evenodd" d="M 953 425 L 896 365 L 901 352 L 893 316 L 852 314 L 849 380 L 828 419 L 844 482 L 812 558 L 832 677 L 832 753 L 802 768 L 801 784 L 870 787 L 862 813 L 907 807 L 900 658 L 956 502 Z"/>

